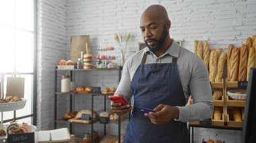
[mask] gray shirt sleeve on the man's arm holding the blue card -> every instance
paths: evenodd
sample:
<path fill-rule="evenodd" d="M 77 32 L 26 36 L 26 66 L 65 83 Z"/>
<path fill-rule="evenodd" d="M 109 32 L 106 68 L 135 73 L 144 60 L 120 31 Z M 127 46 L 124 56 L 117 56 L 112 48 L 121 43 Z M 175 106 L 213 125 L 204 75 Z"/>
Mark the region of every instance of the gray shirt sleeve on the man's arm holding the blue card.
<path fill-rule="evenodd" d="M 210 118 L 214 110 L 209 75 L 201 58 L 195 58 L 191 72 L 189 90 L 194 104 L 178 107 L 179 119 L 177 121 L 181 122 L 193 122 Z"/>

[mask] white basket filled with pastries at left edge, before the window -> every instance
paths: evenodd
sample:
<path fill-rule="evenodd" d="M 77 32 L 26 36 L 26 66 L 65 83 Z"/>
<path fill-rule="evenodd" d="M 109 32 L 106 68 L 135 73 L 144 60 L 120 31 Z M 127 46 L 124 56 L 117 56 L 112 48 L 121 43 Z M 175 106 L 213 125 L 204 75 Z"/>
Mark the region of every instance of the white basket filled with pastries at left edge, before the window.
<path fill-rule="evenodd" d="M 0 98 L 0 111 L 14 111 L 22 109 L 26 105 L 26 99 L 20 97 L 7 96 Z"/>

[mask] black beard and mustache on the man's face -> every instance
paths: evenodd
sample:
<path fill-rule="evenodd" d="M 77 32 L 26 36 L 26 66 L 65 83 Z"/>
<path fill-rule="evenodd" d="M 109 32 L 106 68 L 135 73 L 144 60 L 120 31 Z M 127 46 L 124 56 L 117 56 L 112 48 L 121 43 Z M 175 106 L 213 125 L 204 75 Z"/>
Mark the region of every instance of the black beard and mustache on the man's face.
<path fill-rule="evenodd" d="M 164 44 L 164 40 L 166 39 L 167 34 L 168 34 L 167 28 L 166 28 L 166 25 L 164 25 L 164 31 L 162 32 L 162 36 L 159 38 L 159 40 L 157 40 L 156 38 L 148 38 L 147 40 L 144 40 L 144 42 L 146 43 L 146 45 L 148 46 L 150 51 L 156 52 L 163 48 L 162 46 Z M 148 41 L 155 41 L 156 45 L 150 46 L 150 45 L 148 45 Z"/>

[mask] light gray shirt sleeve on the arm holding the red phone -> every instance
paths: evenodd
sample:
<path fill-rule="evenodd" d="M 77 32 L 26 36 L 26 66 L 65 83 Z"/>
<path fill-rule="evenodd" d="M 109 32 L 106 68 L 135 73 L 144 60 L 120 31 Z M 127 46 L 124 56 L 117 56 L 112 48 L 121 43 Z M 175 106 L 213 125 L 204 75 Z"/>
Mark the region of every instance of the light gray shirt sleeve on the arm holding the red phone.
<path fill-rule="evenodd" d="M 129 66 L 129 60 L 127 60 L 127 62 L 125 62 L 123 66 L 121 81 L 119 82 L 115 95 L 123 95 L 123 97 L 126 97 L 127 101 L 130 101 L 131 100 L 131 77 L 129 74 L 128 66 Z"/>

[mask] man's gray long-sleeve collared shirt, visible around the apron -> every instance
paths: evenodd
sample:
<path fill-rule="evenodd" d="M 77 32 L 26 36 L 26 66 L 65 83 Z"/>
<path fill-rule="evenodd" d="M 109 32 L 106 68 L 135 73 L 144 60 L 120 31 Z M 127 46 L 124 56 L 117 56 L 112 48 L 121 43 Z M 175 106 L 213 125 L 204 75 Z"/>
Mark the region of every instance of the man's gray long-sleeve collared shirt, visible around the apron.
<path fill-rule="evenodd" d="M 172 62 L 172 57 L 178 58 L 177 66 L 186 103 L 190 95 L 194 101 L 193 105 L 178 107 L 178 121 L 192 122 L 209 118 L 212 115 L 214 109 L 212 89 L 210 87 L 207 68 L 203 60 L 193 52 L 179 46 L 174 40 L 170 48 L 160 57 L 156 57 L 147 47 L 131 55 L 123 66 L 121 81 L 115 95 L 123 95 L 128 100 L 131 99 L 131 80 L 145 52 L 148 54 L 145 64 L 170 63 Z"/>

